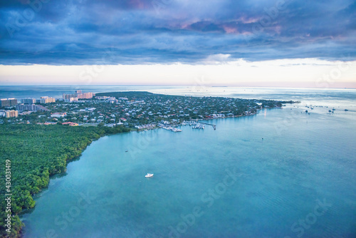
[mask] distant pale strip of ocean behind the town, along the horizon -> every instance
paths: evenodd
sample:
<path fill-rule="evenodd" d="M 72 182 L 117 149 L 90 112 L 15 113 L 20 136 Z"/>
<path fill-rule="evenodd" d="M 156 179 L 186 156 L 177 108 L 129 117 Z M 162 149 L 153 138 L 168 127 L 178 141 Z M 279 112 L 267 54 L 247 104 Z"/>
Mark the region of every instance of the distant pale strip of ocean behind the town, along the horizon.
<path fill-rule="evenodd" d="M 307 103 L 350 103 L 355 100 L 356 89 L 345 88 L 241 88 L 209 86 L 0 86 L 0 98 L 62 98 L 63 93 L 103 93 L 119 91 L 148 91 L 169 95 L 224 96 L 231 98 L 304 100 Z"/>

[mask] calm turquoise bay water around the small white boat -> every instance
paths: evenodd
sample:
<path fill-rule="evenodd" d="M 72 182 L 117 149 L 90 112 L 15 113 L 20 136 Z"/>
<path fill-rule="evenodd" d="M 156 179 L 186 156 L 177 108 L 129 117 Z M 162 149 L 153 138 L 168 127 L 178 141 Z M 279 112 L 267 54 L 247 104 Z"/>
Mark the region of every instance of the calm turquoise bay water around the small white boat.
<path fill-rule="evenodd" d="M 24 237 L 356 237 L 355 90 L 210 93 L 301 103 L 101 138 L 36 197 Z"/>

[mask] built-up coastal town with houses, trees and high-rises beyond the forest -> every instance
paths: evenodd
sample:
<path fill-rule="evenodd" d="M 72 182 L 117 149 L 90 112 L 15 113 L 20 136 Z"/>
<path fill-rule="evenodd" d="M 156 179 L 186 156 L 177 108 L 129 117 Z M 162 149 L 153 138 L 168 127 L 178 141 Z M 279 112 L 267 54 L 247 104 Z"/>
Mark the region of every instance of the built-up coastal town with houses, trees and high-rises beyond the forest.
<path fill-rule="evenodd" d="M 132 130 L 193 125 L 198 120 L 254 115 L 261 108 L 281 107 L 292 101 L 247 100 L 223 97 L 162 95 L 148 92 L 75 93 L 62 98 L 4 98 L 0 100 L 1 124 L 42 124 L 69 126 L 122 125 Z"/>

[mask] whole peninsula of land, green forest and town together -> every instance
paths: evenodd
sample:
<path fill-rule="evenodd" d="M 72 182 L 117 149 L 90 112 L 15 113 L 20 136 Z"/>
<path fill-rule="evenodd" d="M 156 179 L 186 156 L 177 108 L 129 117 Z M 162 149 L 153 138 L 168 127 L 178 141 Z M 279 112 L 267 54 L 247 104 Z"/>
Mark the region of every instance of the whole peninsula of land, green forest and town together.
<path fill-rule="evenodd" d="M 2 118 L 1 164 L 9 164 L 12 170 L 6 191 L 8 170 L 3 167 L 0 187 L 1 194 L 11 194 L 11 237 L 21 237 L 19 214 L 35 206 L 33 195 L 48 186 L 50 176 L 66 172 L 68 161 L 103 135 L 157 128 L 162 123 L 177 125 L 189 120 L 254 115 L 258 109 L 277 108 L 283 103 L 294 102 L 114 92 L 73 102 L 40 101 L 36 108 L 41 110 L 23 110 L 17 116 Z M 5 200 L 0 202 L 1 227 L 6 227 L 10 214 L 5 212 L 7 205 Z M 1 229 L 1 236 L 6 234 Z"/>

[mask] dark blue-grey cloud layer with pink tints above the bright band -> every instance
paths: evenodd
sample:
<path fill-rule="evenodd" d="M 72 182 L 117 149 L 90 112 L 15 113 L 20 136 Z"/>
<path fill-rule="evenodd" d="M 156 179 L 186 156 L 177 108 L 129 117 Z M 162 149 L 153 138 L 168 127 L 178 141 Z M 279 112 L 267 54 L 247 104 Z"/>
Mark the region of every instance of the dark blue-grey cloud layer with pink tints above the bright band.
<path fill-rule="evenodd" d="M 349 0 L 1 1 L 0 63 L 194 64 L 214 54 L 348 61 L 355 12 Z"/>

